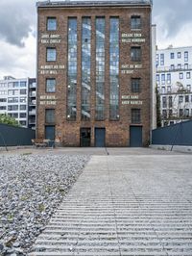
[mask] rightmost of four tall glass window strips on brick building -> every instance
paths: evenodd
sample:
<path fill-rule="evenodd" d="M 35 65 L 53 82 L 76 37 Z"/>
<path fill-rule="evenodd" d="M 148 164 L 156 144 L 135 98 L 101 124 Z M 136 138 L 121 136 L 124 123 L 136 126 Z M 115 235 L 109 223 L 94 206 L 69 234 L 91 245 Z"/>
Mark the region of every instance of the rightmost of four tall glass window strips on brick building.
<path fill-rule="evenodd" d="M 109 38 L 109 118 L 119 119 L 119 18 L 110 17 Z"/>

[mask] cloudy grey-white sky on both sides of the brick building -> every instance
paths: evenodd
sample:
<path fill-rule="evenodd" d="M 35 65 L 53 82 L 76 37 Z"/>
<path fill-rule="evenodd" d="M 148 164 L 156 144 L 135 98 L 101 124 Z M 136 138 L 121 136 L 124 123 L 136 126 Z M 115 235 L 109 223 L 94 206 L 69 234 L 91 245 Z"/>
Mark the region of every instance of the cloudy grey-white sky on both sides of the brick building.
<path fill-rule="evenodd" d="M 192 45 L 192 0 L 154 0 L 158 48 Z M 0 0 L 0 79 L 36 76 L 36 0 Z"/>

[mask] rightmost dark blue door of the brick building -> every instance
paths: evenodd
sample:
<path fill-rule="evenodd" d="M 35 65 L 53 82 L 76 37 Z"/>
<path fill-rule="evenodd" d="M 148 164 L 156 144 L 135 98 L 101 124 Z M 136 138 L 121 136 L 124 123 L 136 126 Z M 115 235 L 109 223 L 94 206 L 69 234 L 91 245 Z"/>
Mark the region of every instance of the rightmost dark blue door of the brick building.
<path fill-rule="evenodd" d="M 131 147 L 142 146 L 142 126 L 130 127 L 130 146 Z"/>

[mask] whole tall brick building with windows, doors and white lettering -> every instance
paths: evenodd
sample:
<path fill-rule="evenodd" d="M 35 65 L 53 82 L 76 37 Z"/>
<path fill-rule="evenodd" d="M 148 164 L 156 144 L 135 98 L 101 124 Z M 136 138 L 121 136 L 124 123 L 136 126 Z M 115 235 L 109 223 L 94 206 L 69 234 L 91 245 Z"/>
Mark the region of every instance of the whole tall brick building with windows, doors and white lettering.
<path fill-rule="evenodd" d="M 37 138 L 149 142 L 151 10 L 151 0 L 37 3 Z"/>

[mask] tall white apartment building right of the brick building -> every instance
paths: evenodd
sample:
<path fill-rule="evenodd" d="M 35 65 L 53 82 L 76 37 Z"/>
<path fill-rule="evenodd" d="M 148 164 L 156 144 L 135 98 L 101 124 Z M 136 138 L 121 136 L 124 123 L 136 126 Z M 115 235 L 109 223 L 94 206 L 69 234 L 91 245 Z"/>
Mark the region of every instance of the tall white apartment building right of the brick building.
<path fill-rule="evenodd" d="M 162 126 L 192 117 L 192 46 L 156 50 Z"/>

